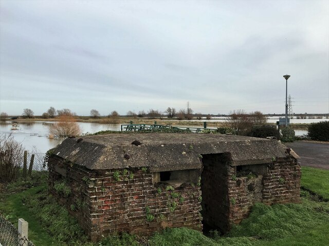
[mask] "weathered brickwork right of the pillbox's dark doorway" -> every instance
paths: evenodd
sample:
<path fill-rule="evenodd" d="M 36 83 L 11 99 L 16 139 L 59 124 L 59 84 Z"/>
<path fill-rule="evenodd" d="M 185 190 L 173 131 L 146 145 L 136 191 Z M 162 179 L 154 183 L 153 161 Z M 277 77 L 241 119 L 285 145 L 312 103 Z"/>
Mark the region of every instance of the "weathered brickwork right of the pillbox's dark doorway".
<path fill-rule="evenodd" d="M 230 223 L 240 223 L 246 218 L 255 202 L 268 205 L 300 202 L 301 171 L 295 158 L 281 158 L 263 166 L 266 171 L 258 177 L 236 177 L 236 167 L 229 169 Z"/>

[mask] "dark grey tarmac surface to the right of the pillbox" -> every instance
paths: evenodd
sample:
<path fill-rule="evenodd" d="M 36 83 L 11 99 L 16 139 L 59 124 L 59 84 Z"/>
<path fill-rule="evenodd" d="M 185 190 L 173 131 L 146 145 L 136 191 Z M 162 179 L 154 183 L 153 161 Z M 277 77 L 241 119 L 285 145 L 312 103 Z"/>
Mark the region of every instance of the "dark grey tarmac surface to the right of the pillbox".
<path fill-rule="evenodd" d="M 301 166 L 329 170 L 329 144 L 295 141 L 287 142 L 285 145 L 300 156 L 298 162 Z"/>

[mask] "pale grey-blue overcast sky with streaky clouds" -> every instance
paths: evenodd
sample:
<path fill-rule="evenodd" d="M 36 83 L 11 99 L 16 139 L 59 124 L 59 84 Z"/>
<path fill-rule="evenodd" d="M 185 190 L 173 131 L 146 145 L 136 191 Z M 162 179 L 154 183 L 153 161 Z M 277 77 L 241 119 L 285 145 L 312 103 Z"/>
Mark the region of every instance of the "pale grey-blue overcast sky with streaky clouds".
<path fill-rule="evenodd" d="M 329 1 L 0 3 L 1 112 L 329 112 Z"/>

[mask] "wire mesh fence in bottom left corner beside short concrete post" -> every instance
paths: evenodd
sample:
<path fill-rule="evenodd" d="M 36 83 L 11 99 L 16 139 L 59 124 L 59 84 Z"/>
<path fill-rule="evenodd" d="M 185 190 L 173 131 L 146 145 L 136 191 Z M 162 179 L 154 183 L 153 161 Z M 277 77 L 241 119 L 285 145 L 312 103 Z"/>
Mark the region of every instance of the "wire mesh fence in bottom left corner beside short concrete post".
<path fill-rule="evenodd" d="M 26 237 L 21 237 L 19 231 L 2 214 L 0 214 L 0 243 L 3 246 L 34 246 Z"/>

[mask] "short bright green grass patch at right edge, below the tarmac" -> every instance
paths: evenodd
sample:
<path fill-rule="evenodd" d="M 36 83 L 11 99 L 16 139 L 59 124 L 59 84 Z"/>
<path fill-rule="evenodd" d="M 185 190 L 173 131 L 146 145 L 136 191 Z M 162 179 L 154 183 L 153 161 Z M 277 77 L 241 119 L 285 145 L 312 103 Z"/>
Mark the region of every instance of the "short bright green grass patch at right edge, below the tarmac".
<path fill-rule="evenodd" d="M 301 187 L 329 200 L 329 170 L 302 167 Z"/>

